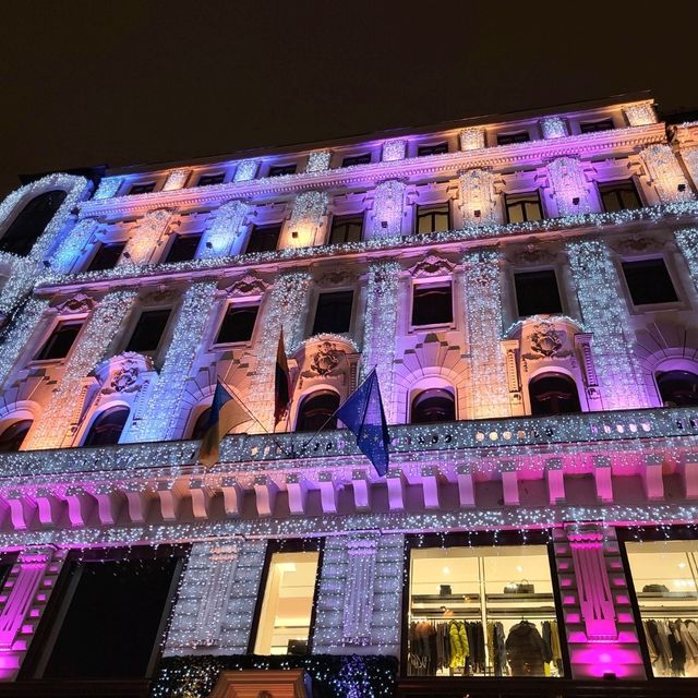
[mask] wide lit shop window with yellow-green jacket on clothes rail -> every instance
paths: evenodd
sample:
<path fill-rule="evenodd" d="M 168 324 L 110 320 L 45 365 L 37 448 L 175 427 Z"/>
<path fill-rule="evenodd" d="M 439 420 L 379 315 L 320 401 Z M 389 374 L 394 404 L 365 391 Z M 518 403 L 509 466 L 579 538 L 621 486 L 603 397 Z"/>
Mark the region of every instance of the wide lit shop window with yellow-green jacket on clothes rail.
<path fill-rule="evenodd" d="M 410 551 L 410 676 L 563 676 L 545 545 Z"/>

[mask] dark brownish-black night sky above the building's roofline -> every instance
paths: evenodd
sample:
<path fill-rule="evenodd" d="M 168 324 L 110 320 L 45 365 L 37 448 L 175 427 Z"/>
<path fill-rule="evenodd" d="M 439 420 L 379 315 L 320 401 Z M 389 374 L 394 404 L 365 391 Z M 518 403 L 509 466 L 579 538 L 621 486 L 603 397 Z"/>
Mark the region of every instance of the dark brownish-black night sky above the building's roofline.
<path fill-rule="evenodd" d="M 698 109 L 697 26 L 696 2 L 7 0 L 0 193 L 639 89 Z"/>

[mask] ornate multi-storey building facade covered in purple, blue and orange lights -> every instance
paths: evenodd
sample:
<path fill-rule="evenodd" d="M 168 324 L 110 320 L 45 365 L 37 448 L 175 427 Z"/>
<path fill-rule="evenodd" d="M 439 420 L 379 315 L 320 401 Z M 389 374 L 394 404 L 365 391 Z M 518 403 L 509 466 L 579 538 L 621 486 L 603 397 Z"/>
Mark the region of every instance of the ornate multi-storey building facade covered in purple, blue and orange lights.
<path fill-rule="evenodd" d="M 695 695 L 697 189 L 636 95 L 10 194 L 0 695 Z"/>

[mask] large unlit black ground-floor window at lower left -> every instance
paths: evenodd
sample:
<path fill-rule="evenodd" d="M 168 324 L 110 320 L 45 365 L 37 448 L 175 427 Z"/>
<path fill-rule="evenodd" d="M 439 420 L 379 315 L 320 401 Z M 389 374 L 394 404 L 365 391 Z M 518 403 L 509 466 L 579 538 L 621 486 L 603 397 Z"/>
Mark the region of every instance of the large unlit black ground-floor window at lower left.
<path fill-rule="evenodd" d="M 145 677 L 176 570 L 169 556 L 69 563 L 75 591 L 44 677 Z"/>

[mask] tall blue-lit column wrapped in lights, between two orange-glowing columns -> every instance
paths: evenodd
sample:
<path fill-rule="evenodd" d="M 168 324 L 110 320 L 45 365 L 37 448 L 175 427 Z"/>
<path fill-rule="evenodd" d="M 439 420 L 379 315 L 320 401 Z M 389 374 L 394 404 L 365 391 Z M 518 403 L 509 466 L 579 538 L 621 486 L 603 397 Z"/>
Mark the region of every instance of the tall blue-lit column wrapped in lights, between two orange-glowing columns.
<path fill-rule="evenodd" d="M 172 433 L 172 429 L 178 423 L 186 378 L 193 372 L 208 325 L 216 286 L 216 281 L 200 281 L 184 293 L 163 369 L 147 405 L 129 431 L 129 441 L 166 441 L 180 436 Z"/>

